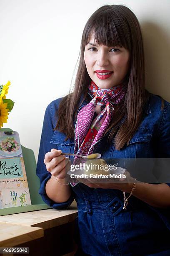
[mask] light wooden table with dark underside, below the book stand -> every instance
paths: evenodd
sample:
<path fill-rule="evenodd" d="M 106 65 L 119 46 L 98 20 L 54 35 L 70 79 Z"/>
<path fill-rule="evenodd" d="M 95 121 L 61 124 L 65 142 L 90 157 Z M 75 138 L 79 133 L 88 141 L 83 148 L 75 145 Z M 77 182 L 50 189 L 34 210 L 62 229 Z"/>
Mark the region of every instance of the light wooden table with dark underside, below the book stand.
<path fill-rule="evenodd" d="M 52 208 L 0 216 L 0 247 L 29 247 L 31 256 L 74 255 L 76 217 L 75 201 L 67 210 Z"/>

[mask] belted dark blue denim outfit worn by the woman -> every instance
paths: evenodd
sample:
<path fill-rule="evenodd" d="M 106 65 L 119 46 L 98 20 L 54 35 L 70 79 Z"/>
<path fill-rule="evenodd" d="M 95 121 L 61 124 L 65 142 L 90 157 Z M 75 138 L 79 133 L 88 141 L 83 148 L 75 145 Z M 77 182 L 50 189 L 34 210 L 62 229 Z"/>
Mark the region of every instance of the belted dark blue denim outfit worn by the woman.
<path fill-rule="evenodd" d="M 64 133 L 53 131 L 57 123 L 55 111 L 61 99 L 52 101 L 46 108 L 36 174 L 40 178 L 39 193 L 50 207 L 67 209 L 76 200 L 78 216 L 75 224 L 80 255 L 170 255 L 170 208 L 152 207 L 132 196 L 127 210 L 123 210 L 122 191 L 94 189 L 82 183 L 71 187 L 72 194 L 66 202 L 55 203 L 47 197 L 45 185 L 51 174 L 44 164 L 45 154 L 51 148 L 67 153 L 74 151 L 74 138 L 65 141 Z M 88 102 L 86 99 L 78 111 Z M 107 143 L 109 131 L 100 140 L 95 152 L 104 159 L 170 158 L 170 103 L 165 101 L 163 110 L 160 108 L 160 97 L 151 94 L 140 127 L 129 145 L 117 151 L 113 141 Z M 122 118 L 119 125 L 124 120 Z"/>

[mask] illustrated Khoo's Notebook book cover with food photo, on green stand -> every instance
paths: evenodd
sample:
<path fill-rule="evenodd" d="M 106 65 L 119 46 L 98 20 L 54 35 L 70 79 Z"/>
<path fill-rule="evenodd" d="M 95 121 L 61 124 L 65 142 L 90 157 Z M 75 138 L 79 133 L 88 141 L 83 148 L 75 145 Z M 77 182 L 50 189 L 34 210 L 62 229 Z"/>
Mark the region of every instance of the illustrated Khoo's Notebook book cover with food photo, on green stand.
<path fill-rule="evenodd" d="M 0 132 L 0 208 L 31 205 L 19 134 Z"/>

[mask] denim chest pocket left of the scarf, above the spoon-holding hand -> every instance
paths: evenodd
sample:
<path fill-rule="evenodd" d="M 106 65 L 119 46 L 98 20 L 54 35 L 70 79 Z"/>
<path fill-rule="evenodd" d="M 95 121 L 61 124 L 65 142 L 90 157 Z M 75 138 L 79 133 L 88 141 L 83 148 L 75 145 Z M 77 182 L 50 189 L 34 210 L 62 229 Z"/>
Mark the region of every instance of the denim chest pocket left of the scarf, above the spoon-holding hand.
<path fill-rule="evenodd" d="M 65 138 L 66 135 L 64 133 L 54 131 L 50 143 L 56 144 L 56 148 L 64 153 L 73 153 L 75 145 L 74 138 L 69 138 L 67 141 L 65 141 Z"/>

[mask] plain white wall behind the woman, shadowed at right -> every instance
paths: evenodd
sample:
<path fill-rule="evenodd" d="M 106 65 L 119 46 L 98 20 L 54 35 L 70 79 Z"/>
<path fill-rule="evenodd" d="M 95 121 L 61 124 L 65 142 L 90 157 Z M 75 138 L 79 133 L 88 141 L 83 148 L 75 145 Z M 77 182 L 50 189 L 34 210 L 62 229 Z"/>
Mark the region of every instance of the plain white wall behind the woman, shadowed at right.
<path fill-rule="evenodd" d="M 0 84 L 11 81 L 8 123 L 37 160 L 47 105 L 69 92 L 83 28 L 104 4 L 124 4 L 144 35 L 146 87 L 170 101 L 170 0 L 0 0 Z M 7 97 L 7 98 L 8 98 Z"/>

